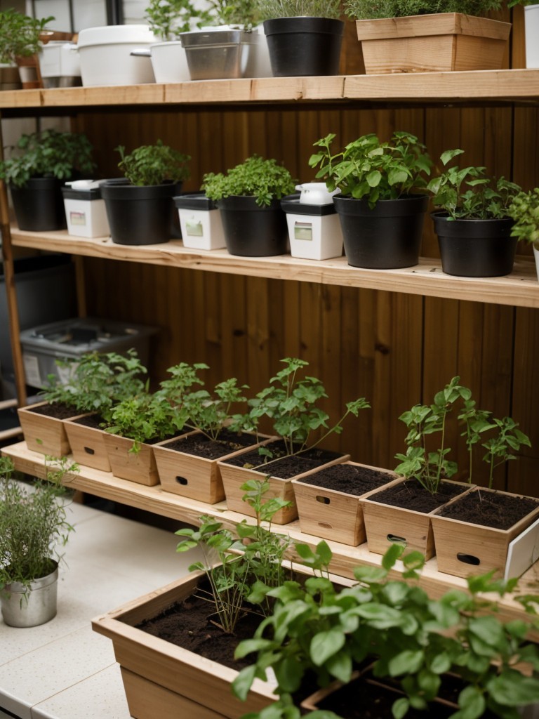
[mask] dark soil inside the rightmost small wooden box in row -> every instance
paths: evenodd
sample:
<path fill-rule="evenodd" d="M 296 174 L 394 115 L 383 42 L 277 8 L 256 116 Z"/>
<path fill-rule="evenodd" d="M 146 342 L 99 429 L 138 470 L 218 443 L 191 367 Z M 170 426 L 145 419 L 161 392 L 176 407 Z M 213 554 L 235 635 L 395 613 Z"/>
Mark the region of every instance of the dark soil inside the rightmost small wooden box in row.
<path fill-rule="evenodd" d="M 509 529 L 538 506 L 538 501 L 526 497 L 475 490 L 444 507 L 440 515 L 486 527 Z"/>

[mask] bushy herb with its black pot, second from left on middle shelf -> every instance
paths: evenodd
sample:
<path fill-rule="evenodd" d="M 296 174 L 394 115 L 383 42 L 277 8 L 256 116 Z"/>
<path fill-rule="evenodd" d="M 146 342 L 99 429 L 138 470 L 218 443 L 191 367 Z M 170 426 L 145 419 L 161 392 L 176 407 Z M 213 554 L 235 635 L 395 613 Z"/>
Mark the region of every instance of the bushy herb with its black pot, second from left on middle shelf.
<path fill-rule="evenodd" d="M 116 244 L 168 242 L 178 225 L 172 198 L 189 177 L 189 155 L 163 145 L 141 145 L 126 154 L 116 147 L 124 178 L 101 185 L 111 239 Z M 179 234 L 179 233 L 178 233 Z"/>

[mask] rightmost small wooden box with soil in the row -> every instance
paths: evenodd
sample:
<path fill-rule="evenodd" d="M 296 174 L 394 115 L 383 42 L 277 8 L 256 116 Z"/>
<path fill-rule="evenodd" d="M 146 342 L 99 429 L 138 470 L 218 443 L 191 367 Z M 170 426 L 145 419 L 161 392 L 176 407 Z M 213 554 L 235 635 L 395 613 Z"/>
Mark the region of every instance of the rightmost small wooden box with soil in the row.
<path fill-rule="evenodd" d="M 505 574 L 510 542 L 539 518 L 539 500 L 475 487 L 433 513 L 438 571 Z"/>

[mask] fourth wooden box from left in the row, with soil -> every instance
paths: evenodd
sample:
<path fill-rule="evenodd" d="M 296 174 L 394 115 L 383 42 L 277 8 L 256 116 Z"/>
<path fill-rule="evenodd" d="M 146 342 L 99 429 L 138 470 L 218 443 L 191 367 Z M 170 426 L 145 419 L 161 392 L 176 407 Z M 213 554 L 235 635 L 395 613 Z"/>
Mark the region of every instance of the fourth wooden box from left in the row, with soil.
<path fill-rule="evenodd" d="M 225 493 L 218 460 L 232 459 L 260 444 L 254 434 L 226 431 L 217 440 L 195 431 L 160 442 L 154 456 L 162 488 L 207 504 L 221 502 Z"/>

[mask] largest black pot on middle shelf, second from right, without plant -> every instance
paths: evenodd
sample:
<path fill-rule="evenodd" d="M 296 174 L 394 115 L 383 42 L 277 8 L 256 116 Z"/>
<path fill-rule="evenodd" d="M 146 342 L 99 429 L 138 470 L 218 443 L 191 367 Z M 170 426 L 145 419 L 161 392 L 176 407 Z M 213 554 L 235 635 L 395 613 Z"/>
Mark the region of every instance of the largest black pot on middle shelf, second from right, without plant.
<path fill-rule="evenodd" d="M 333 197 L 341 220 L 344 252 L 352 267 L 395 270 L 419 261 L 426 195 L 379 200 L 373 209 L 366 199 Z"/>

